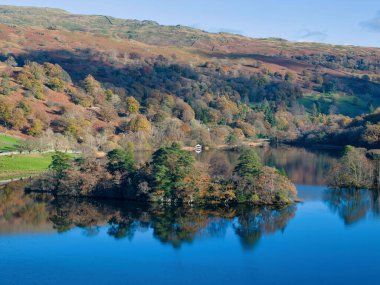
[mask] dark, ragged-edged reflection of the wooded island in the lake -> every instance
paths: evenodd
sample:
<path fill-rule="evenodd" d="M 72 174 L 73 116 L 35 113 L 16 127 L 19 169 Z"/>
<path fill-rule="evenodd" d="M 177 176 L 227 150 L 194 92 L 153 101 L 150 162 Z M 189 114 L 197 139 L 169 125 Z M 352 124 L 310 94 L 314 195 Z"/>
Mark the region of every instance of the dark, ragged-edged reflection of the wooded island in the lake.
<path fill-rule="evenodd" d="M 50 220 L 58 232 L 74 227 L 88 232 L 106 226 L 113 238 L 132 240 L 136 232 L 152 229 L 162 244 L 180 248 L 197 237 L 223 237 L 232 225 L 247 249 L 253 248 L 262 235 L 283 230 L 296 210 L 295 206 L 280 210 L 247 206 L 200 209 L 90 200 L 70 203 L 68 199 L 58 199 L 49 208 Z"/>

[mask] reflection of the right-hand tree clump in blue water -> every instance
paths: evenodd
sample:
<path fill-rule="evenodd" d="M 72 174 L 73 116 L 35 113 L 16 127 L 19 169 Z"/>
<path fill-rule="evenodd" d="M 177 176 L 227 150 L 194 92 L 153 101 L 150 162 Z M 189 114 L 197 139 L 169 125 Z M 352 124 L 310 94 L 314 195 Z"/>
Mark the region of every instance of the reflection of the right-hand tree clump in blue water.
<path fill-rule="evenodd" d="M 353 225 L 368 214 L 380 216 L 378 191 L 327 189 L 323 200 L 334 213 L 338 213 L 345 225 Z"/>

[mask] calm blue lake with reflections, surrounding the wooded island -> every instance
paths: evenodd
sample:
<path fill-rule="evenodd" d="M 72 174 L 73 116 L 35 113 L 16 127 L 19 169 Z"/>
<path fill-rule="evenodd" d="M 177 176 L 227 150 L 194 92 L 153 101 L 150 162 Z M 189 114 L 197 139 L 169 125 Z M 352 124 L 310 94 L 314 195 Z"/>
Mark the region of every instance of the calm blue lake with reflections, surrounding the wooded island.
<path fill-rule="evenodd" d="M 258 149 L 302 203 L 147 206 L 0 190 L 0 284 L 379 284 L 380 198 L 331 190 L 338 154 Z M 204 152 L 228 174 L 234 152 Z"/>

